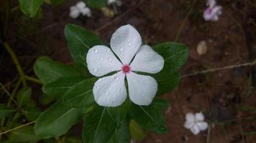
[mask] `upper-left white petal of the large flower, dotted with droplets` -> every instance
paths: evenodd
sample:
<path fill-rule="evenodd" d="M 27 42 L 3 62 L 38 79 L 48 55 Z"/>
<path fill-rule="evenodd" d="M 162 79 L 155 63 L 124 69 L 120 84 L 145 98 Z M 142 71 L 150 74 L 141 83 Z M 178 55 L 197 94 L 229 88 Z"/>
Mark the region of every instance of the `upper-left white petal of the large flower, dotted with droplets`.
<path fill-rule="evenodd" d="M 106 46 L 93 46 L 86 55 L 88 70 L 96 77 L 109 74 L 111 71 L 122 69 L 121 62 Z"/>

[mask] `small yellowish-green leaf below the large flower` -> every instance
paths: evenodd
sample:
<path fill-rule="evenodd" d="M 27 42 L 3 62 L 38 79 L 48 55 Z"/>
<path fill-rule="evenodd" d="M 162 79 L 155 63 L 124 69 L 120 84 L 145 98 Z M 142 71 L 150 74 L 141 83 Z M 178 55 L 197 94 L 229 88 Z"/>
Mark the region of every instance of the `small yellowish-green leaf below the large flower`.
<path fill-rule="evenodd" d="M 137 124 L 134 119 L 129 122 L 129 132 L 131 133 L 132 139 L 141 141 L 146 137 L 146 134 L 143 131 L 142 127 L 140 127 L 140 125 Z"/>

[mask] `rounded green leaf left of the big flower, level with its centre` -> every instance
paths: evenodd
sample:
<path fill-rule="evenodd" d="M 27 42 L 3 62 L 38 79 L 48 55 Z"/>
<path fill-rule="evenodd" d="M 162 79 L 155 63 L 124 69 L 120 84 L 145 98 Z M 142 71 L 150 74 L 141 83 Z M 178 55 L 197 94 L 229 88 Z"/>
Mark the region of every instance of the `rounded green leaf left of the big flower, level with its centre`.
<path fill-rule="evenodd" d="M 58 61 L 52 61 L 49 57 L 42 56 L 35 61 L 34 71 L 37 77 L 45 84 L 53 82 L 60 77 L 74 77 L 80 74 L 71 66 Z"/>

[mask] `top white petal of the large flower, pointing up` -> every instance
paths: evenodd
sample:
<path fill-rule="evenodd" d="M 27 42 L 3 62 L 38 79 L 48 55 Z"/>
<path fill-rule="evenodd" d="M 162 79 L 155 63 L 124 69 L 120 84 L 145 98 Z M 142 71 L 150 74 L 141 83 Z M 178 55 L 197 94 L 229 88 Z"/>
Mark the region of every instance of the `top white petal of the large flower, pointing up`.
<path fill-rule="evenodd" d="M 142 44 L 139 32 L 131 25 L 119 27 L 111 37 L 110 45 L 123 64 L 129 64 Z"/>

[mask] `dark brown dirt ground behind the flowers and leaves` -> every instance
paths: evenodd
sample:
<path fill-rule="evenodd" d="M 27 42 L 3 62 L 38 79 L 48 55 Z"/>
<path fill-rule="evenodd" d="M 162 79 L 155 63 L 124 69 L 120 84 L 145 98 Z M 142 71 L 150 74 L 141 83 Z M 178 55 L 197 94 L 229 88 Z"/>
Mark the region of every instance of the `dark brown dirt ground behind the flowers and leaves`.
<path fill-rule="evenodd" d="M 219 1 L 223 14 L 216 22 L 206 22 L 202 18 L 205 1 L 123 0 L 123 5 L 117 7 L 119 14 L 113 18 L 93 9 L 91 18 L 70 19 L 69 7 L 75 3 L 67 1 L 56 8 L 45 4 L 42 19 L 36 21 L 20 18 L 19 11 L 12 18 L 18 21 L 10 23 L 6 41 L 17 53 L 27 74 L 34 75 L 32 64 L 42 55 L 72 64 L 63 34 L 65 24 L 74 23 L 91 29 L 104 39 L 105 44 L 117 27 L 132 24 L 140 31 L 145 44 L 179 41 L 189 46 L 190 51 L 188 62 L 181 69 L 183 78 L 179 86 L 172 93 L 163 95 L 171 103 L 165 111 L 168 134 L 148 134 L 142 142 L 256 142 L 256 110 L 248 109 L 256 109 L 256 92 L 251 84 L 256 82 L 255 68 L 246 66 L 184 76 L 255 59 L 255 1 Z M 35 27 L 27 28 L 29 22 L 35 23 Z M 196 47 L 203 40 L 207 52 L 200 56 Z M 8 54 L 1 53 L 1 82 L 7 83 L 15 80 L 17 72 Z M 211 127 L 194 136 L 183 127 L 185 114 L 201 111 L 206 114 Z"/>

